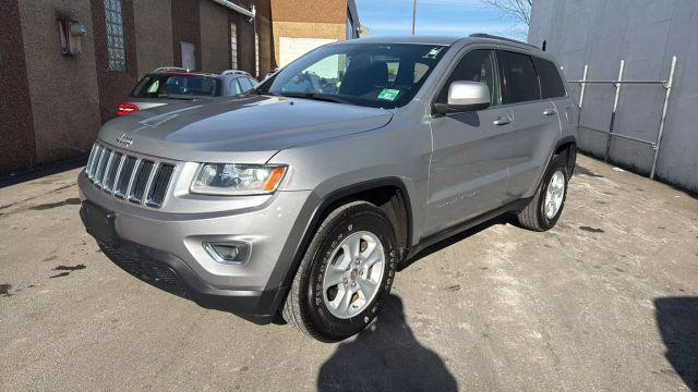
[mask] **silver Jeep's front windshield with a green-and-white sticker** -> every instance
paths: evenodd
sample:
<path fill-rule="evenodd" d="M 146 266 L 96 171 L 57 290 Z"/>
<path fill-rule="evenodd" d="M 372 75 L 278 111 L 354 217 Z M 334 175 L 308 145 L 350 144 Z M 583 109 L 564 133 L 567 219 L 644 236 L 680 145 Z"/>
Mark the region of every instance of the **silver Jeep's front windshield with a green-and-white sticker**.
<path fill-rule="evenodd" d="M 446 50 L 417 44 L 328 45 L 263 82 L 257 93 L 397 108 L 414 97 Z"/>

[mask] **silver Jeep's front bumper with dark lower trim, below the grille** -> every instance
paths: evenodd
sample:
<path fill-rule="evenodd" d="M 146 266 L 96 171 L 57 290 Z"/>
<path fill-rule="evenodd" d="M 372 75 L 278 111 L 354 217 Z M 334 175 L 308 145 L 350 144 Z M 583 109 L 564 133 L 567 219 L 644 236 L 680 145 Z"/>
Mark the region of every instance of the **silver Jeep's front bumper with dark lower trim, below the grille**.
<path fill-rule="evenodd" d="M 206 308 L 230 311 L 256 323 L 272 321 L 285 294 L 278 271 L 288 268 L 294 222 L 310 192 L 277 192 L 257 207 L 182 213 L 116 199 L 79 175 L 83 204 L 111 212 L 117 242 L 96 240 L 109 259 L 134 277 L 193 299 Z M 205 203 L 192 201 L 192 203 Z M 88 232 L 95 224 L 81 218 Z M 203 242 L 244 241 L 251 245 L 242 265 L 214 260 Z"/>

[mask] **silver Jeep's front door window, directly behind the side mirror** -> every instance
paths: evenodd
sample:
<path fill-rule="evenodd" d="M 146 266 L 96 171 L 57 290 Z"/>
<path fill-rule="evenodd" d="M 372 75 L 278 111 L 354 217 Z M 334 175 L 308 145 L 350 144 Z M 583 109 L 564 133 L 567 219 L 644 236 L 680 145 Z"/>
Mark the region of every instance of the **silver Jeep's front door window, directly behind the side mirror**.
<path fill-rule="evenodd" d="M 500 77 L 495 66 L 494 51 L 489 49 L 477 49 L 468 52 L 460 59 L 454 71 L 446 79 L 446 84 L 438 91 L 436 102 L 446 103 L 448 100 L 448 87 L 453 82 L 482 82 L 490 88 L 490 100 L 492 105 L 502 103 L 500 90 Z"/>

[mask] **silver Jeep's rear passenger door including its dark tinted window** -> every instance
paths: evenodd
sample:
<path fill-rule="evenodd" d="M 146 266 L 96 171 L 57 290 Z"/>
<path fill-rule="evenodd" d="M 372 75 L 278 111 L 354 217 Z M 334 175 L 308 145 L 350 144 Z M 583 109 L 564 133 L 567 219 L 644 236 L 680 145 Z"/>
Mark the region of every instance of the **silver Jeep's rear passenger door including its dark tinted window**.
<path fill-rule="evenodd" d="M 561 135 L 557 108 L 542 99 L 533 58 L 497 50 L 504 81 L 504 101 L 513 110 L 515 131 L 509 137 L 507 200 L 531 196 L 545 170 L 552 144 Z"/>

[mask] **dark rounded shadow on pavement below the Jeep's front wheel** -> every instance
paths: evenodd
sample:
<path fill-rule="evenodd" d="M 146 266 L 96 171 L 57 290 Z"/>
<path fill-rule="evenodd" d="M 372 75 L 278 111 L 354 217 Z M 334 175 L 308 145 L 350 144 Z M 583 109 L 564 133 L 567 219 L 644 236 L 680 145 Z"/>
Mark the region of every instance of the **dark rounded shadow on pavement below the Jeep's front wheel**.
<path fill-rule="evenodd" d="M 402 301 L 389 295 L 375 322 L 339 344 L 320 369 L 318 391 L 457 391 L 446 364 L 407 324 Z"/>

